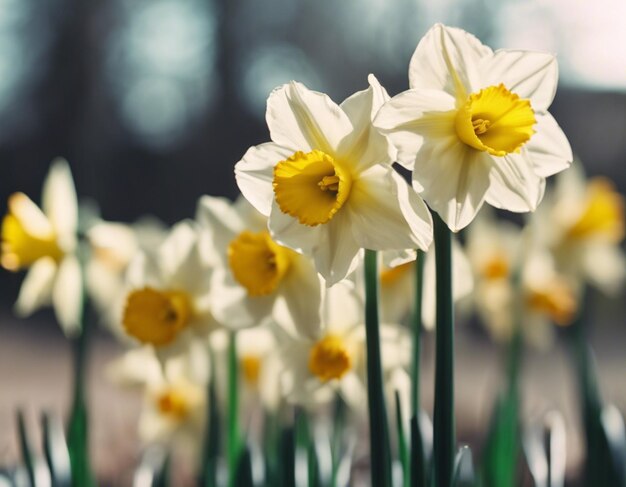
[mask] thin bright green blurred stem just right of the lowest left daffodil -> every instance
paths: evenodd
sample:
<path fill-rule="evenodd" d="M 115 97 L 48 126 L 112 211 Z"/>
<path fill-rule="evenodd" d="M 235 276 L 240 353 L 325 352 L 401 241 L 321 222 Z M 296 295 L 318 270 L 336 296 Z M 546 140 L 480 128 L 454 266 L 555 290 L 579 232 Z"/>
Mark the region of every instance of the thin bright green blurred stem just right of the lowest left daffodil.
<path fill-rule="evenodd" d="M 230 486 L 234 487 L 239 462 L 239 381 L 237 367 L 237 335 L 232 332 L 228 341 L 228 426 L 227 459 Z"/>

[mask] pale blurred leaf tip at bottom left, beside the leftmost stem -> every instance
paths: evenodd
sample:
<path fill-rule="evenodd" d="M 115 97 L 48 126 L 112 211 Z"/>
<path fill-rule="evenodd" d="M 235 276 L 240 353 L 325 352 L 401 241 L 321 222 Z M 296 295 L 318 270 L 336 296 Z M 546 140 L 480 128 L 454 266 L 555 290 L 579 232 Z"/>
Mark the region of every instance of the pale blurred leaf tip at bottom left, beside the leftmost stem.
<path fill-rule="evenodd" d="M 43 449 L 50 469 L 52 485 L 70 487 L 72 467 L 70 454 L 63 434 L 63 424 L 58 416 L 44 414 L 42 417 Z"/>

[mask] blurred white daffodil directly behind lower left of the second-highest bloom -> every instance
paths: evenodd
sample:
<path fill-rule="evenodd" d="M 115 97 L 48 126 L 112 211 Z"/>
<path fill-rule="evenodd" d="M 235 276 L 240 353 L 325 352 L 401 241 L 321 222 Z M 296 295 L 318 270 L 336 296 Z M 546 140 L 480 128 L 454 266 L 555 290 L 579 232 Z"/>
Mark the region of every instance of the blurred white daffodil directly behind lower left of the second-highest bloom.
<path fill-rule="evenodd" d="M 306 333 L 306 324 L 319 319 L 322 283 L 310 258 L 272 240 L 267 218 L 244 198 L 233 204 L 204 196 L 196 219 L 203 250 L 217 257 L 212 309 L 224 326 L 248 328 L 280 316 L 289 321 L 283 326 Z M 288 313 L 277 313 L 279 306 Z"/>

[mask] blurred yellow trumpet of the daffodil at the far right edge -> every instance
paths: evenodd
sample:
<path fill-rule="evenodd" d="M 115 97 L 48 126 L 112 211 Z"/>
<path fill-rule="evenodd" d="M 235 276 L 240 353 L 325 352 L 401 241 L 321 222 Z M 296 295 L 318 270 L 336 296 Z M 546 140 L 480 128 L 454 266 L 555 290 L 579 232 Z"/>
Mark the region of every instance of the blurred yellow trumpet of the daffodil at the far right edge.
<path fill-rule="evenodd" d="M 624 238 L 624 197 L 605 178 L 594 178 L 587 186 L 587 202 L 567 237 L 574 240 L 603 237 L 610 242 Z"/>

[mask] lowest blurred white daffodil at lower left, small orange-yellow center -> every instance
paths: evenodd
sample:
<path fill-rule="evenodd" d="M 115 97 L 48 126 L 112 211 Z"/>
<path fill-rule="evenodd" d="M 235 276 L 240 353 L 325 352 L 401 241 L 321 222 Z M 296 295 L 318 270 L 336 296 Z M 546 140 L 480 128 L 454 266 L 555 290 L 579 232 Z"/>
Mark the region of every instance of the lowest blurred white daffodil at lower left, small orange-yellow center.
<path fill-rule="evenodd" d="M 126 352 L 107 367 L 114 383 L 143 391 L 139 436 L 146 445 L 173 446 L 198 464 L 207 417 L 209 361 L 206 345 L 195 342 L 163 364 L 150 347 Z"/>

